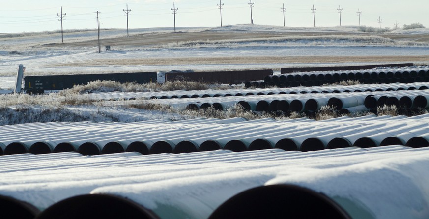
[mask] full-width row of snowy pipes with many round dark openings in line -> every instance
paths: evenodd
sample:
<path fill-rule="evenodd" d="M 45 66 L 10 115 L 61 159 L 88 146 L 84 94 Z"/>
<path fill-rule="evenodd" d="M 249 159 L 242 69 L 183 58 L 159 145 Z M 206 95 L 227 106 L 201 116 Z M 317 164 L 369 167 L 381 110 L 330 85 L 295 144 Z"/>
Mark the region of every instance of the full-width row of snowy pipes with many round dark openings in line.
<path fill-rule="evenodd" d="M 279 148 L 429 146 L 429 114 L 246 121 L 244 118 L 152 120 L 136 123 L 32 123 L 0 127 L 1 154 L 77 151 L 84 155 L 185 153 Z"/>

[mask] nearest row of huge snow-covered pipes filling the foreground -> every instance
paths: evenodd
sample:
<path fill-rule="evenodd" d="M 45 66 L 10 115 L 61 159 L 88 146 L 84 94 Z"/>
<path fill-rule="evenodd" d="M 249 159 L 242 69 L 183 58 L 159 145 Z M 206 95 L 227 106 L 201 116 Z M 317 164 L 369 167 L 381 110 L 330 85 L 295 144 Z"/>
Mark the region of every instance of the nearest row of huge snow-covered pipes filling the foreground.
<path fill-rule="evenodd" d="M 4 219 L 423 219 L 429 148 L 0 157 Z"/>

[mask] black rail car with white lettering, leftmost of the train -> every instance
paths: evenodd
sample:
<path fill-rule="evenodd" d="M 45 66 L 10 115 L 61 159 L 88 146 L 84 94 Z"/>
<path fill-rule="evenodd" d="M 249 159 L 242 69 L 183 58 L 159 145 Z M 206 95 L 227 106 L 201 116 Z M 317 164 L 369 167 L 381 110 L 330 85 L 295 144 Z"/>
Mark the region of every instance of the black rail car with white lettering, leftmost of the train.
<path fill-rule="evenodd" d="M 108 74 L 79 74 L 79 75 L 44 75 L 26 76 L 24 90 L 26 93 L 42 94 L 46 90 L 63 90 L 75 85 L 87 84 L 96 80 L 117 82 L 136 82 L 139 84 L 157 82 L 156 72 L 108 73 Z"/>

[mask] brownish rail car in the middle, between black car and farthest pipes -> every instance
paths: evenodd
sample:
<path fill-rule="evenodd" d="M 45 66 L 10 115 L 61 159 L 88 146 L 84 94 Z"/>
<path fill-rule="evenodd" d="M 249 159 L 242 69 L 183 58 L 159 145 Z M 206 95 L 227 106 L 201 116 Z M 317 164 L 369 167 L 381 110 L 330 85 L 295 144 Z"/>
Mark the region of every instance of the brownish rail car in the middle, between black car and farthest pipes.
<path fill-rule="evenodd" d="M 248 81 L 263 79 L 273 75 L 272 69 L 245 70 L 245 71 L 215 71 L 215 72 L 189 72 L 166 73 L 166 81 L 195 81 L 208 83 L 239 84 Z"/>

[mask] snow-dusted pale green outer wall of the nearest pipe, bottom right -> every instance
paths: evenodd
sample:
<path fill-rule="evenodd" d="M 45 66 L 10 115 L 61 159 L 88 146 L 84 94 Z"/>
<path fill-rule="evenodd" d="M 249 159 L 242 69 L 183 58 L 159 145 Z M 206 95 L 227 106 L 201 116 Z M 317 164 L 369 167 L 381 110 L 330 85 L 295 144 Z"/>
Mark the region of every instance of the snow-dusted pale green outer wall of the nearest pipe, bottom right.
<path fill-rule="evenodd" d="M 429 188 L 424 182 L 429 171 L 422 168 L 428 165 L 427 153 L 414 154 L 306 174 L 285 171 L 265 185 L 292 184 L 322 193 L 353 219 L 428 218 Z"/>

